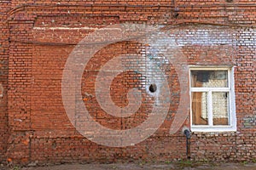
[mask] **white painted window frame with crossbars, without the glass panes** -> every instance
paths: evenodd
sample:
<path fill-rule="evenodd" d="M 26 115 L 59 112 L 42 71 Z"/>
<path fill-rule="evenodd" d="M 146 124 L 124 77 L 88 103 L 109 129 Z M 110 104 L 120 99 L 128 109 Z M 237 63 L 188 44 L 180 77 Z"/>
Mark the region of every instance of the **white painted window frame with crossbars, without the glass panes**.
<path fill-rule="evenodd" d="M 192 88 L 191 71 L 228 71 L 228 88 Z M 193 125 L 192 123 L 192 92 L 207 92 L 208 125 Z M 230 125 L 213 125 L 212 92 L 229 92 Z M 189 65 L 189 98 L 190 98 L 190 127 L 192 132 L 236 132 L 236 99 L 234 86 L 234 67 L 232 66 L 198 66 Z"/>

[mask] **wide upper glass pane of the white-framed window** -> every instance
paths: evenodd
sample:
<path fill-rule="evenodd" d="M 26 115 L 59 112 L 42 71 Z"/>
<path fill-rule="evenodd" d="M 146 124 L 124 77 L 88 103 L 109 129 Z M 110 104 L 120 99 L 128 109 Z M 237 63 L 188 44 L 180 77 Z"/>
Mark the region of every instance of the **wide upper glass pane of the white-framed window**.
<path fill-rule="evenodd" d="M 191 71 L 194 88 L 227 88 L 228 71 Z"/>

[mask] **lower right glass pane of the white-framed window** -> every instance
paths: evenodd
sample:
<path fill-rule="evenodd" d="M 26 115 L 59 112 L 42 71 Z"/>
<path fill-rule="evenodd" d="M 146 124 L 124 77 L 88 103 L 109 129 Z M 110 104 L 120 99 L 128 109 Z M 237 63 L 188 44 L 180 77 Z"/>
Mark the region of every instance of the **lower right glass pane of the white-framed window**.
<path fill-rule="evenodd" d="M 229 93 L 212 92 L 213 125 L 230 125 Z"/>

